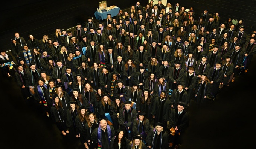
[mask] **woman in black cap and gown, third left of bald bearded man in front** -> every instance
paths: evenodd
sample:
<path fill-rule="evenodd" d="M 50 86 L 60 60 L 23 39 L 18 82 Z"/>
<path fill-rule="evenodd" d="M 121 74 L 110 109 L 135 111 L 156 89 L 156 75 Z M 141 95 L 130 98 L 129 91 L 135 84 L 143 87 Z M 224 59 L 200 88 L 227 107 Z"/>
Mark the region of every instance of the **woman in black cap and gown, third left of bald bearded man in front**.
<path fill-rule="evenodd" d="M 79 114 L 78 106 L 76 101 L 69 101 L 69 109 L 67 110 L 67 127 L 69 128 L 70 134 L 76 134 L 79 137 L 79 131 L 76 128 L 76 116 Z"/>

